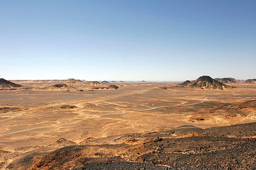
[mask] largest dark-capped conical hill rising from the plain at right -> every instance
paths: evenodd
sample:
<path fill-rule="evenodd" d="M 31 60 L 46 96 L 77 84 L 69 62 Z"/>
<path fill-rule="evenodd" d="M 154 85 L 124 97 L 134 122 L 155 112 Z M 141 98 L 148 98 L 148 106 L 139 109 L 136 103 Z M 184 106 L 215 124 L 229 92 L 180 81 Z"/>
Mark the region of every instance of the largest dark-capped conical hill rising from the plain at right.
<path fill-rule="evenodd" d="M 232 86 L 225 85 L 221 82 L 218 82 L 212 77 L 204 75 L 199 77 L 197 80 L 189 82 L 185 85 L 182 85 L 183 87 L 196 87 L 200 89 L 228 89 L 228 88 L 233 88 Z"/>

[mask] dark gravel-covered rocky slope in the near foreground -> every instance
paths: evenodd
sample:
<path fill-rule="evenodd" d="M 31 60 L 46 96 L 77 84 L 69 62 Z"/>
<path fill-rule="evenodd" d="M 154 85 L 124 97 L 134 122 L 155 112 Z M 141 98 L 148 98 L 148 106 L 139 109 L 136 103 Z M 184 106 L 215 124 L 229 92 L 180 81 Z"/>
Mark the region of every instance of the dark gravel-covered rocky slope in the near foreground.
<path fill-rule="evenodd" d="M 115 145 L 67 147 L 15 160 L 8 170 L 256 169 L 256 122 L 200 129 L 182 126 L 112 138 Z M 56 144 L 55 143 L 55 144 Z"/>

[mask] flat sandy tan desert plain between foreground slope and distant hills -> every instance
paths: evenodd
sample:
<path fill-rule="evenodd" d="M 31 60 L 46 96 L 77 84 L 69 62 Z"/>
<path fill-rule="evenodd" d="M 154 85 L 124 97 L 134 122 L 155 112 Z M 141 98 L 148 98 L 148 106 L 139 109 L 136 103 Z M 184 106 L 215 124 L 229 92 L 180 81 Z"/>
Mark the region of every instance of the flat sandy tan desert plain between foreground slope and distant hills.
<path fill-rule="evenodd" d="M 118 90 L 94 91 L 83 84 L 72 85 L 75 89 L 70 91 L 39 88 L 54 84 L 26 83 L 17 90 L 0 90 L 0 108 L 15 107 L 13 111 L 0 110 L 0 162 L 7 165 L 34 151 L 62 147 L 52 145 L 60 138 L 76 144 L 96 138 L 87 145 L 114 144 L 111 136 L 128 133 L 256 122 L 252 110 L 237 111 L 236 116 L 226 110 L 218 114 L 200 111 L 255 100 L 256 85 L 231 84 L 237 88 L 230 90 L 158 89 L 175 83 L 113 83 Z"/>

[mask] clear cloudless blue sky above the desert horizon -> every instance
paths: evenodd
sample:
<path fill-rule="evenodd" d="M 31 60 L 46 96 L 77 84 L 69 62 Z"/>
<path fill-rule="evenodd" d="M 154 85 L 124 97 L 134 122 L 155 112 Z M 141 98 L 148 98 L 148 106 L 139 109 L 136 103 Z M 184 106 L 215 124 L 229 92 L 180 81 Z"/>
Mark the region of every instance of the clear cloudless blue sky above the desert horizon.
<path fill-rule="evenodd" d="M 0 78 L 256 78 L 256 0 L 0 1 Z"/>

